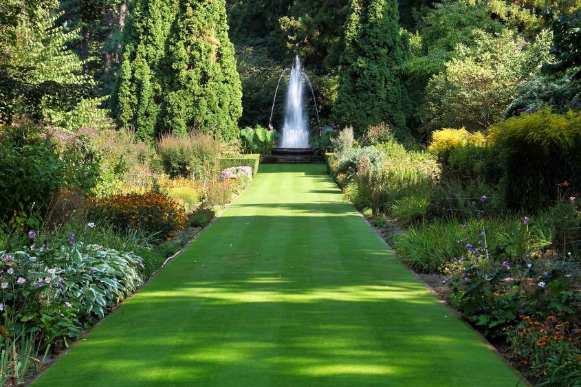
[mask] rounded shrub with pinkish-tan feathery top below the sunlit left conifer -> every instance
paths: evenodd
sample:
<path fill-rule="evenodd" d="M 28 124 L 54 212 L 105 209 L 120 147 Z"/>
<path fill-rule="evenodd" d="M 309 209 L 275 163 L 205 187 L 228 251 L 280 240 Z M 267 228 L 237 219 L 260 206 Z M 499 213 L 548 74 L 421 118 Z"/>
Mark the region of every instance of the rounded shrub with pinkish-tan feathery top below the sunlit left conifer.
<path fill-rule="evenodd" d="M 192 132 L 186 137 L 169 134 L 157 142 L 157 153 L 170 177 L 208 179 L 216 173 L 219 146 L 204 133 Z"/>

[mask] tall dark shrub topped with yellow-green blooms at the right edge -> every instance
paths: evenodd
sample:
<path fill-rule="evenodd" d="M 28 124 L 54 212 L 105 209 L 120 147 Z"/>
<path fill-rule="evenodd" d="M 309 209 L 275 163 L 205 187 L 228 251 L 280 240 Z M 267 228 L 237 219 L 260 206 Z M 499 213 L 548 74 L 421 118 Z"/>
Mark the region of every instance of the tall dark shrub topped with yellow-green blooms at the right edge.
<path fill-rule="evenodd" d="M 540 208 L 581 188 L 581 114 L 549 108 L 496 124 L 492 139 L 503 152 L 504 194 L 517 208 Z M 561 194 L 564 192 L 561 192 Z"/>

